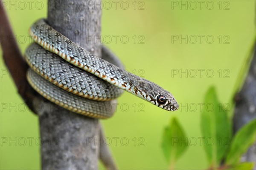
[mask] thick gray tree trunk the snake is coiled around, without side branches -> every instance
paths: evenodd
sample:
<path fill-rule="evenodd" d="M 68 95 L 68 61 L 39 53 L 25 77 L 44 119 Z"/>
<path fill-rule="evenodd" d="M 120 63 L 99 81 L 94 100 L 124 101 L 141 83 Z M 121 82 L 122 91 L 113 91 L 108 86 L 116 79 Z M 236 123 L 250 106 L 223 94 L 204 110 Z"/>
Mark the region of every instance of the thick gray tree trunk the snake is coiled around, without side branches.
<path fill-rule="evenodd" d="M 100 1 L 93 1 L 100 3 Z M 61 34 L 96 56 L 101 56 L 101 9 L 88 7 L 87 0 L 49 0 L 47 22 Z M 49 101 L 39 101 L 42 169 L 98 169 L 99 121 L 75 114 Z"/>

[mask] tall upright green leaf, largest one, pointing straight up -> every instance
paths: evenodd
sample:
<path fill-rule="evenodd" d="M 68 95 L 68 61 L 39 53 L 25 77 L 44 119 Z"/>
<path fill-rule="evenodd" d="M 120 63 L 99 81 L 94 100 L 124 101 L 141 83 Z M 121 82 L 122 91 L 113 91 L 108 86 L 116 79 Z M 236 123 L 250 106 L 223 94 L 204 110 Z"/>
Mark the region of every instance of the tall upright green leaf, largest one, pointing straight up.
<path fill-rule="evenodd" d="M 210 87 L 205 95 L 201 114 L 204 150 L 211 166 L 217 167 L 231 141 L 231 121 L 218 101 L 216 90 Z"/>

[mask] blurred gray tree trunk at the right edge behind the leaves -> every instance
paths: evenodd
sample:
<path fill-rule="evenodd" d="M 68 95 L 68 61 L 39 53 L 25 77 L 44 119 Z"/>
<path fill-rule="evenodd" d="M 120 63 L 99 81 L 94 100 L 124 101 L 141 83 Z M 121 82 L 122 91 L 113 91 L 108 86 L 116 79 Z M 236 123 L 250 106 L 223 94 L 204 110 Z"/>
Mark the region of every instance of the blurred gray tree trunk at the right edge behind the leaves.
<path fill-rule="evenodd" d="M 256 118 L 256 53 L 250 65 L 249 72 L 241 91 L 235 98 L 236 108 L 233 117 L 233 128 L 236 133 L 247 122 Z M 247 153 L 242 156 L 241 161 L 256 163 L 256 144 L 253 144 Z M 256 170 L 256 164 L 253 168 Z"/>

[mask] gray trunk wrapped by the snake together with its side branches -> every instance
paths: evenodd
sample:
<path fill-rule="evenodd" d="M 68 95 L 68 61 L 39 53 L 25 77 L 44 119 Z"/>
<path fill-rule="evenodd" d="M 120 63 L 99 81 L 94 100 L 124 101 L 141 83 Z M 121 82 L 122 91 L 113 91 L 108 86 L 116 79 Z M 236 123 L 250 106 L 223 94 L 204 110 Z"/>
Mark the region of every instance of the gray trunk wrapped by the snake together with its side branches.
<path fill-rule="evenodd" d="M 93 2 L 100 3 L 98 0 Z M 87 8 L 87 3 L 87 0 L 49 0 L 48 22 L 100 57 L 101 44 L 87 41 L 87 35 L 100 37 L 101 9 Z M 108 147 L 95 143 L 99 135 L 104 138 L 97 119 L 74 114 L 52 104 L 29 86 L 26 80 L 28 66 L 16 44 L 2 1 L 0 7 L 3 59 L 23 100 L 39 115 L 42 169 L 98 169 L 98 156 L 108 169 L 116 169 Z M 110 55 L 109 51 L 105 52 Z M 35 109 L 36 106 L 41 106 L 41 109 Z"/>

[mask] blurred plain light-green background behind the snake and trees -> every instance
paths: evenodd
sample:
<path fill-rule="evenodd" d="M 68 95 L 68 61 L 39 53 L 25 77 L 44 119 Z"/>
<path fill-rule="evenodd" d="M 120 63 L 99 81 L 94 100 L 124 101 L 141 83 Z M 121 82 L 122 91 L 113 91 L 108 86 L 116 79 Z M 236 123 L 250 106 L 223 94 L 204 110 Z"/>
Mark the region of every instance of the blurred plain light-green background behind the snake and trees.
<path fill-rule="evenodd" d="M 23 1 L 25 8 L 19 2 L 11 6 L 14 0 L 5 1 L 24 53 L 30 42 L 27 30 L 35 20 L 47 17 L 47 1 L 37 4 L 33 1 L 31 8 L 27 1 Z M 200 138 L 200 104 L 209 86 L 216 86 L 221 103 L 229 102 L 239 69 L 255 39 L 255 0 L 203 1 L 201 6 L 198 1 L 118 1 L 116 9 L 113 1 L 107 2 L 112 5 L 110 9 L 106 2 L 103 1 L 102 9 L 103 43 L 108 43 L 109 35 L 128 37 L 127 43 L 120 38 L 115 42 L 113 37 L 106 45 L 128 71 L 167 89 L 180 104 L 179 110 L 167 112 L 125 92 L 118 100 L 113 118 L 101 121 L 106 137 L 119 138 L 116 146 L 112 140 L 111 151 L 120 169 L 168 169 L 160 145 L 163 128 L 170 118 L 177 117 L 189 138 Z M 187 43 L 174 40 L 180 36 L 186 39 L 186 35 Z M 204 69 L 202 75 L 200 69 Z M 36 143 L 40 137 L 38 117 L 23 104 L 6 74 L 2 58 L 0 70 L 0 169 L 40 169 L 40 146 Z M 187 74 L 180 74 L 186 70 Z M 23 138 L 26 144 L 21 146 Z M 32 138 L 31 146 L 28 138 Z M 121 142 L 122 138 L 128 139 L 127 146 L 125 141 Z M 8 142 L 3 142 L 5 139 Z M 17 146 L 15 142 L 9 144 L 10 140 L 16 140 Z M 206 165 L 204 149 L 198 140 L 175 167 L 204 169 Z"/>

